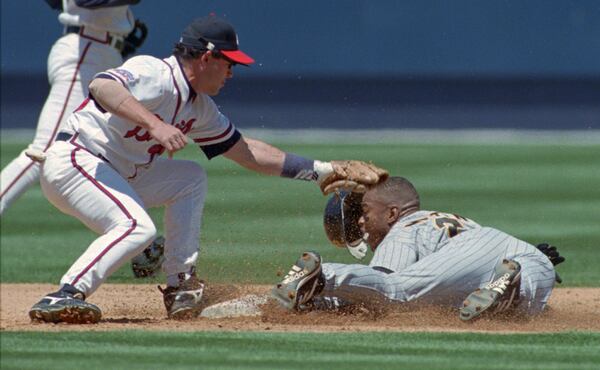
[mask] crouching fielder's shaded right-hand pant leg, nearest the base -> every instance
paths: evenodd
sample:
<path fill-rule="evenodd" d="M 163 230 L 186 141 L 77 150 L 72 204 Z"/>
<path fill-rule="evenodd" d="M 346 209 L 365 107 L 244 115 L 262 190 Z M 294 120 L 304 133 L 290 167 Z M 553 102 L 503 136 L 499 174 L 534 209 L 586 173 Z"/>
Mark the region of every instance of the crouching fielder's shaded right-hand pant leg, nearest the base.
<path fill-rule="evenodd" d="M 165 206 L 165 262 L 162 268 L 168 280 L 178 273 L 189 272 L 196 265 L 200 252 L 206 172 L 193 161 L 159 158 L 131 185 L 148 208 Z M 174 281 L 168 283 L 173 285 Z"/>

